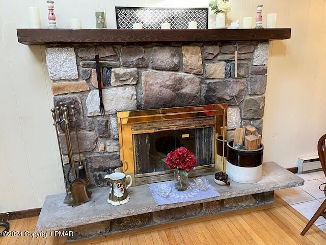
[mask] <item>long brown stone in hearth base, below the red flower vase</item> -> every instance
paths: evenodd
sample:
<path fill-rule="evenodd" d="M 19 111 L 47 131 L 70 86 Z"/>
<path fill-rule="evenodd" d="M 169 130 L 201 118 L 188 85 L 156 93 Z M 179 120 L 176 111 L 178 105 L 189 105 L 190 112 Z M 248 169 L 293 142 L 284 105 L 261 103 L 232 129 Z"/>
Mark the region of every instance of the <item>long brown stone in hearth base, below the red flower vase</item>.
<path fill-rule="evenodd" d="M 173 220 L 186 219 L 196 216 L 201 210 L 200 203 L 189 206 L 166 209 L 153 212 L 153 220 L 155 223 L 166 223 Z"/>

